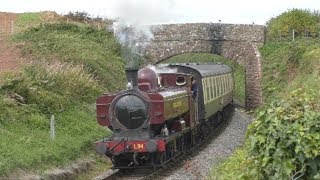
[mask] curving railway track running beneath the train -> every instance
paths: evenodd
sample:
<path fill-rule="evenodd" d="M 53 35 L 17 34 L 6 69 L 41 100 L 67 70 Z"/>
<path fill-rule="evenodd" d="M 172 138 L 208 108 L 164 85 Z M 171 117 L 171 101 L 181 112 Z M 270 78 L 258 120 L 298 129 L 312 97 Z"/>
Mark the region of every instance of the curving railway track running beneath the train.
<path fill-rule="evenodd" d="M 203 139 L 200 143 L 192 147 L 187 152 L 181 153 L 176 156 L 176 158 L 173 158 L 172 161 L 168 162 L 165 167 L 159 168 L 154 170 L 153 168 L 150 169 L 132 169 L 127 171 L 119 171 L 119 170 L 109 170 L 108 172 L 97 176 L 94 178 L 95 180 L 122 180 L 122 179 L 130 179 L 130 180 L 151 180 L 151 179 L 164 179 L 168 176 L 168 174 L 171 174 L 175 172 L 177 169 L 182 167 L 186 161 L 188 161 L 189 158 L 195 156 L 198 152 L 200 152 L 202 149 L 206 147 L 206 145 L 216 136 L 217 131 L 220 129 L 220 127 L 228 123 L 230 119 L 233 117 L 234 109 L 232 111 L 231 116 L 220 123 L 220 125 L 215 128 L 212 133 L 210 133 L 208 136 L 206 136 L 205 139 Z"/>

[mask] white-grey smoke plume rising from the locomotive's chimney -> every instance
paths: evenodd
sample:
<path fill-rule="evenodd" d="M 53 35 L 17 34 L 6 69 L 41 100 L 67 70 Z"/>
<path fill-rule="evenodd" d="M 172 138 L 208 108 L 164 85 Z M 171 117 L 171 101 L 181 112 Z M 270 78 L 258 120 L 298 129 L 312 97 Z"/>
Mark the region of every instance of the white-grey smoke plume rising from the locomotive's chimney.
<path fill-rule="evenodd" d="M 119 0 L 114 7 L 116 22 L 113 31 L 121 45 L 121 55 L 128 68 L 143 64 L 143 51 L 154 39 L 151 24 L 169 21 L 172 1 Z"/>

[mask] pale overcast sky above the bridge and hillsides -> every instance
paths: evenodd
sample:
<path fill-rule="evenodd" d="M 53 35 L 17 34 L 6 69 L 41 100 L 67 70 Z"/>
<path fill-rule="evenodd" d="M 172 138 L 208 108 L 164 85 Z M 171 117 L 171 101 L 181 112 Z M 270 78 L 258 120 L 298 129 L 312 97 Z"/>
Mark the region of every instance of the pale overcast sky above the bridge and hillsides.
<path fill-rule="evenodd" d="M 0 0 L 0 12 L 87 12 L 141 24 L 212 22 L 264 25 L 292 9 L 320 10 L 319 0 Z"/>

